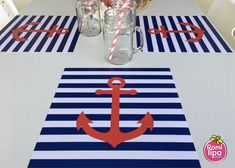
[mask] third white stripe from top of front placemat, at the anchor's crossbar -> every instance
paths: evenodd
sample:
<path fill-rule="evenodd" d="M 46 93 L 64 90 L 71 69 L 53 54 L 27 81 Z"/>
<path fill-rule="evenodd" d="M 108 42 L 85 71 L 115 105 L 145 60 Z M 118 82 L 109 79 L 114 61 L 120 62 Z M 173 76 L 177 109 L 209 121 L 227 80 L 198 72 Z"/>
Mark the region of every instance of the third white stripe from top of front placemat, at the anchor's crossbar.
<path fill-rule="evenodd" d="M 109 90 L 109 88 L 57 88 L 56 92 L 60 93 L 95 93 L 97 89 Z M 138 93 L 177 93 L 175 88 L 133 88 Z M 130 90 L 130 88 L 123 88 L 122 90 Z"/>

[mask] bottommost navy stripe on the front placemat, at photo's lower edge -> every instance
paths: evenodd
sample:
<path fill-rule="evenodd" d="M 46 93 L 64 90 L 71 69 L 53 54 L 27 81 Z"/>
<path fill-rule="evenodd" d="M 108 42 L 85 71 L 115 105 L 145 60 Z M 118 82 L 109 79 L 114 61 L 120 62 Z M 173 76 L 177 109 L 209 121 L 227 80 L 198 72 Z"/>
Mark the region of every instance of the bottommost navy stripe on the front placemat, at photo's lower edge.
<path fill-rule="evenodd" d="M 29 168 L 200 168 L 199 160 L 36 160 L 32 159 Z"/>

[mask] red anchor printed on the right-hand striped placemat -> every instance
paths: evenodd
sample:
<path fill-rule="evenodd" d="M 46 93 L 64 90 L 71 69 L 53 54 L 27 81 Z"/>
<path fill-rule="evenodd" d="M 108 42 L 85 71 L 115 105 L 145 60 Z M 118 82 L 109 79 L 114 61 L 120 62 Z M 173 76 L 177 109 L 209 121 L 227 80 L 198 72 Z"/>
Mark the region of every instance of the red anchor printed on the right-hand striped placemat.
<path fill-rule="evenodd" d="M 148 32 L 150 34 L 162 34 L 163 38 L 167 38 L 168 33 L 196 33 L 197 37 L 188 39 L 188 42 L 199 42 L 205 33 L 205 31 L 190 23 L 181 22 L 179 24 L 182 26 L 190 26 L 193 30 L 166 30 L 166 26 L 160 26 L 160 29 L 153 28 L 149 29 Z"/>

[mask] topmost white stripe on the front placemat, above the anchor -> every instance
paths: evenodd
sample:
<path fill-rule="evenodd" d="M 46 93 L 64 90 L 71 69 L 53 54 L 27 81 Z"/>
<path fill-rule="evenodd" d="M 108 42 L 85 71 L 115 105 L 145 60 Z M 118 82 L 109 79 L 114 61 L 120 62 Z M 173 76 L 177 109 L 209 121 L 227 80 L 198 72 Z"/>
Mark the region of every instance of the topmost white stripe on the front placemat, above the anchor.
<path fill-rule="evenodd" d="M 170 71 L 64 71 L 63 75 L 171 75 Z"/>

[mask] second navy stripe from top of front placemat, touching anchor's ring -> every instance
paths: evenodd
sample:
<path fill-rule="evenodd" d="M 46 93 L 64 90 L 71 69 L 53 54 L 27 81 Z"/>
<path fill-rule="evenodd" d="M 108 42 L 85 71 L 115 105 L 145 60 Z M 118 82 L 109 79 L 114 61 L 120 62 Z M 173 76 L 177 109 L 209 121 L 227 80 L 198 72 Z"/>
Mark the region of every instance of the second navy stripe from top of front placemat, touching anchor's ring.
<path fill-rule="evenodd" d="M 112 77 L 123 79 L 172 79 L 171 75 L 63 75 L 61 79 L 110 79 Z"/>

